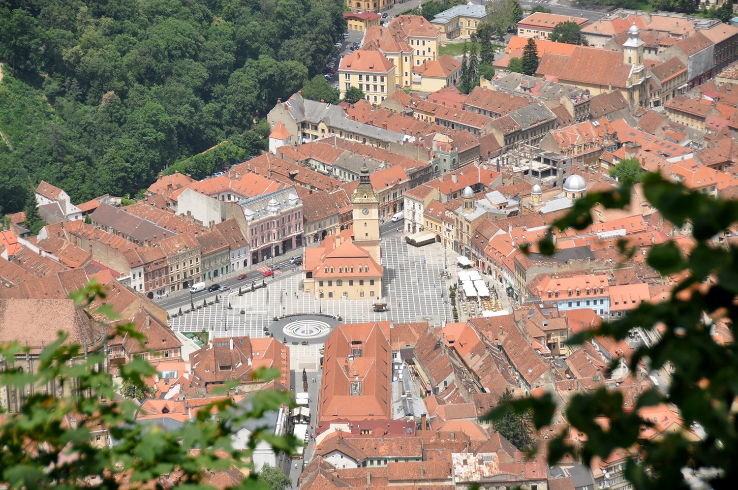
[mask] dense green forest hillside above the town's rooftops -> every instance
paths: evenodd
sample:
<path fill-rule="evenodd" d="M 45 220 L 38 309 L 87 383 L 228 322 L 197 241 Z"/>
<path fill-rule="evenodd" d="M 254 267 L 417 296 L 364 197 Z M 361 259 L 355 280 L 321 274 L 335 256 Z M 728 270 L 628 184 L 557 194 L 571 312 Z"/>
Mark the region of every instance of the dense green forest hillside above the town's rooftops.
<path fill-rule="evenodd" d="M 165 168 L 201 177 L 255 154 L 260 118 L 335 51 L 342 11 L 342 0 L 0 0 L 0 212 L 21 210 L 41 179 L 75 202 L 133 197 Z"/>

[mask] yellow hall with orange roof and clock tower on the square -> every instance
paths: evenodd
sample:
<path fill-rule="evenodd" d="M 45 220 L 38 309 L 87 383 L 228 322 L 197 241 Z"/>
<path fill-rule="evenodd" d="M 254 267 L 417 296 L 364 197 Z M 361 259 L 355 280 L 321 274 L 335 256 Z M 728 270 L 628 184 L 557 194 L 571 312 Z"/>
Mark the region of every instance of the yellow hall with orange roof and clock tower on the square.
<path fill-rule="evenodd" d="M 375 299 L 382 297 L 382 236 L 379 198 L 362 166 L 359 186 L 351 197 L 354 226 L 329 235 L 305 250 L 303 289 L 317 299 Z"/>

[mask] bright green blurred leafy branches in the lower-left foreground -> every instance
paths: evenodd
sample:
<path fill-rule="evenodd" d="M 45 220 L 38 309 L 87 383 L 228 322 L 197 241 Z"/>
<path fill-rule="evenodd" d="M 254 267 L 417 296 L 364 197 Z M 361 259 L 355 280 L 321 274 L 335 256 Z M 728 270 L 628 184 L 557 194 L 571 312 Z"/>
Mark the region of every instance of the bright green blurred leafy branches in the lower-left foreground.
<path fill-rule="evenodd" d="M 38 368 L 23 370 L 21 363 L 16 365 L 13 359 L 25 356 L 30 347 L 18 342 L 0 345 L 3 390 L 13 387 L 25 392 L 27 387 L 49 384 L 64 387 L 49 393 L 29 390 L 22 411 L 4 415 L 0 424 L 0 478 L 5 485 L 73 489 L 93 479 L 106 489 L 155 488 L 161 485 L 162 475 L 181 475 L 170 483 L 203 488 L 204 478 L 210 472 L 235 467 L 251 473 L 241 488 L 258 488 L 250 448 L 263 442 L 276 453 L 292 453 L 297 445 L 294 437 L 275 436 L 267 427 L 252 430 L 245 450 L 231 444 L 233 432 L 243 424 L 254 424 L 265 413 L 289 405 L 289 393 L 265 390 L 253 393 L 248 403 L 238 405 L 224 397 L 173 430 L 152 430 L 134 423 L 137 405 L 130 400 L 117 400 L 110 374 L 100 365 L 106 362 L 107 343 L 115 337 L 128 337 L 142 347 L 144 337 L 131 323 L 116 324 L 111 306 L 105 304 L 103 286 L 90 283 L 73 293 L 72 298 L 96 319 L 109 320 L 111 334 L 97 342 L 97 347 L 80 345 L 60 332 L 55 342 L 46 345 L 38 356 Z M 136 357 L 120 365 L 118 373 L 124 384 L 143 389 L 142 379 L 153 376 L 156 370 Z M 259 370 L 256 375 L 265 380 L 278 376 L 273 370 Z M 225 387 L 232 388 L 235 384 Z M 76 424 L 68 424 L 69 415 L 74 416 Z M 92 430 L 100 426 L 108 429 L 117 442 L 115 446 L 99 446 L 95 442 Z M 197 454 L 191 451 L 193 446 L 199 448 Z M 125 478 L 119 478 L 120 475 Z"/>

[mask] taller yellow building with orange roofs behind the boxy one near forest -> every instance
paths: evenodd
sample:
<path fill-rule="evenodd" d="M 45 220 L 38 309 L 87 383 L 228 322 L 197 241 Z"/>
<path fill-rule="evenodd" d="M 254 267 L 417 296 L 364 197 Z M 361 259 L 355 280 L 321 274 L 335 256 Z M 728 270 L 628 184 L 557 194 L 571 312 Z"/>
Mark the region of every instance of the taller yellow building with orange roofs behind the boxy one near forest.
<path fill-rule="evenodd" d="M 395 66 L 395 81 L 409 87 L 413 68 L 438 60 L 441 34 L 421 15 L 399 15 L 387 27 L 375 26 L 364 35 L 363 50 L 379 51 Z"/>

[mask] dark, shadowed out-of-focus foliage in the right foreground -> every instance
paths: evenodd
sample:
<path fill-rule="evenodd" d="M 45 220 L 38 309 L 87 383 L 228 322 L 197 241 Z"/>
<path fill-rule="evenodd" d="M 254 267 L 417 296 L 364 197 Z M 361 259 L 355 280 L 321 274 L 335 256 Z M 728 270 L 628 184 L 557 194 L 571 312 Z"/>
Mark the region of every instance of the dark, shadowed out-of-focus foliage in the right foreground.
<path fill-rule="evenodd" d="M 628 404 L 620 390 L 599 387 L 576 393 L 562 410 L 568 426 L 548 441 L 548 462 L 565 455 L 589 462 L 607 458 L 614 449 L 627 454 L 625 477 L 636 489 L 686 489 L 686 475 L 699 469 L 714 469 L 708 477 L 711 488 L 728 488 L 738 469 L 738 432 L 733 413 L 738 386 L 738 354 L 734 342 L 718 342 L 715 328 L 731 332 L 738 321 L 735 298 L 738 294 L 736 271 L 738 253 L 714 237 L 738 222 L 738 201 L 717 199 L 699 190 L 689 190 L 658 173 L 647 173 L 641 192 L 649 205 L 675 229 L 692 226 L 693 244 L 681 249 L 674 241 L 654 244 L 646 263 L 663 277 L 689 271 L 661 302 L 640 303 L 627 317 L 602 322 L 569 340 L 581 345 L 594 337 L 621 342 L 634 331 L 650 335 L 652 342 L 638 346 L 624 365 L 631 376 L 645 367 L 649 372 L 665 372 L 663 390 L 640 393 L 635 404 Z M 592 208 L 624 209 L 630 205 L 632 184 L 615 190 L 589 193 L 579 199 L 562 218 L 554 221 L 548 235 L 539 241 L 540 252 L 550 255 L 556 249 L 554 230 L 584 230 L 593 223 Z M 636 252 L 627 242 L 618 245 L 626 255 Z M 621 363 L 615 359 L 610 368 Z M 679 413 L 683 429 L 666 431 L 661 437 L 641 438 L 641 428 L 654 421 L 644 419 L 640 410 L 667 404 Z M 534 426 L 551 424 L 556 406 L 551 395 L 524 398 L 509 405 L 516 413 L 533 410 Z M 493 418 L 503 418 L 495 410 Z M 602 424 L 602 422 L 606 422 Z M 695 438 L 692 429 L 700 434 Z M 568 439 L 570 431 L 582 432 L 581 444 Z"/>

